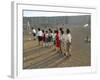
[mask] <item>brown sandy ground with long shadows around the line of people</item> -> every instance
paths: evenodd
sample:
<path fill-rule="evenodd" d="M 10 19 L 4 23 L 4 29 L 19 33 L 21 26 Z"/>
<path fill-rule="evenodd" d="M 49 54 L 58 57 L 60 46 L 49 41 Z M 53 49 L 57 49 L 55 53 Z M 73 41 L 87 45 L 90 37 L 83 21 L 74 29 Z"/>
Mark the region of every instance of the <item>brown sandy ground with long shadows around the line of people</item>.
<path fill-rule="evenodd" d="M 28 40 L 32 35 L 24 34 L 23 68 L 56 68 L 79 67 L 91 65 L 90 43 L 84 41 L 86 35 L 90 35 L 90 29 L 82 25 L 67 25 L 72 34 L 72 56 L 64 57 L 56 53 L 54 47 L 41 47 L 37 40 Z"/>

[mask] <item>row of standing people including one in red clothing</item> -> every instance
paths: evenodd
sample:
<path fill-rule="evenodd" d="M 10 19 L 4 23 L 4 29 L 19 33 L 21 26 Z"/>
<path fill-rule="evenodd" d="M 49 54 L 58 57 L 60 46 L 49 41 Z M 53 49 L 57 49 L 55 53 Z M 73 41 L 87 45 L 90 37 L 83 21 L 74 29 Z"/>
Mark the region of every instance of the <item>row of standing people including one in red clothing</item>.
<path fill-rule="evenodd" d="M 38 28 L 36 31 L 32 28 L 34 39 L 38 38 L 38 43 L 43 47 L 55 47 L 56 51 L 62 53 L 64 56 L 71 56 L 72 36 L 70 30 L 65 31 L 62 28 L 57 30 L 48 29 L 46 31 Z"/>

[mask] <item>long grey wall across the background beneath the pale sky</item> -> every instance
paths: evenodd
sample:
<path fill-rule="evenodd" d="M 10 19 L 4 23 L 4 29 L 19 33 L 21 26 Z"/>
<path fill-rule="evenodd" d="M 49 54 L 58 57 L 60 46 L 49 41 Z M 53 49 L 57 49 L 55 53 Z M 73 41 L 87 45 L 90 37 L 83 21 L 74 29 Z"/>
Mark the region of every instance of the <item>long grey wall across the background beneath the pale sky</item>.
<path fill-rule="evenodd" d="M 27 27 L 29 21 L 31 27 L 41 25 L 56 25 L 56 24 L 71 24 L 71 25 L 84 25 L 90 23 L 90 15 L 81 15 L 81 16 L 59 16 L 59 17 L 24 17 L 23 23 L 24 28 Z"/>

